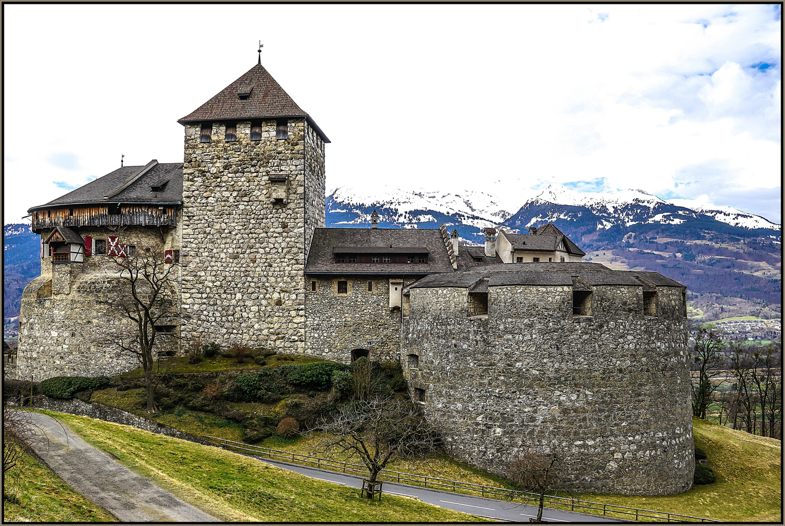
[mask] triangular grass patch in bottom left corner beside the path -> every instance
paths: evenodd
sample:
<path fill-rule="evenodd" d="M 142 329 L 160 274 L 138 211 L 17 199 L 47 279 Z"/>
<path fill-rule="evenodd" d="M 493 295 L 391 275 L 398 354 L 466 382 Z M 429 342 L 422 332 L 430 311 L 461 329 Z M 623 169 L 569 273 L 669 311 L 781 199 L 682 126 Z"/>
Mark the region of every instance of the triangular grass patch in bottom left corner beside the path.
<path fill-rule="evenodd" d="M 3 502 L 5 522 L 117 521 L 29 455 L 23 455 L 18 465 L 4 476 L 5 490 L 10 497 Z"/>

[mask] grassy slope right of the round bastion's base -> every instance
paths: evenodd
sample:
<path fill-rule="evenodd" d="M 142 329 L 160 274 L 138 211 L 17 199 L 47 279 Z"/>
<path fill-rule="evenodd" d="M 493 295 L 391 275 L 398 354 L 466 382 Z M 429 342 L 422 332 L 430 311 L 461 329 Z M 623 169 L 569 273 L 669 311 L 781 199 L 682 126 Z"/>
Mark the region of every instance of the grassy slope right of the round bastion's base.
<path fill-rule="evenodd" d="M 696 486 L 681 495 L 635 497 L 582 495 L 618 506 L 665 510 L 715 521 L 782 521 L 780 440 L 755 437 L 693 418 L 697 447 L 703 448 L 717 483 Z"/>

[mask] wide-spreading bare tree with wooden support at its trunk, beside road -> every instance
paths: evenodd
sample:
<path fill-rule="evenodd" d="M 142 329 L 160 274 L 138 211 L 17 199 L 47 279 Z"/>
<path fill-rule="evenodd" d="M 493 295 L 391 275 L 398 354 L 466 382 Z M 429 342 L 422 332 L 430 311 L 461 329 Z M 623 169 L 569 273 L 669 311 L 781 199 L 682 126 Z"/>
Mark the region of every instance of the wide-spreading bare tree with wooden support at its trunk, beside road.
<path fill-rule="evenodd" d="M 314 450 L 327 458 L 356 455 L 368 470 L 368 481 L 396 458 L 427 455 L 436 450 L 436 429 L 425 421 L 417 404 L 371 398 L 341 406 L 311 432 L 322 431 Z M 373 493 L 367 491 L 368 499 Z"/>

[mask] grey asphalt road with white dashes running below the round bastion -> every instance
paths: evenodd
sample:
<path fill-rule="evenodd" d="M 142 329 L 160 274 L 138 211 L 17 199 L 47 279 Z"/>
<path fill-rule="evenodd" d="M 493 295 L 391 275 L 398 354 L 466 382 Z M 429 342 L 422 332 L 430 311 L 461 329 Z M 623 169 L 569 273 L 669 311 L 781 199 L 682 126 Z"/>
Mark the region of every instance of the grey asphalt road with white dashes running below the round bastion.
<path fill-rule="evenodd" d="M 343 484 L 350 488 L 357 488 L 358 491 L 362 487 L 362 479 L 360 477 L 353 477 L 352 475 L 345 475 L 344 473 L 335 473 L 334 471 L 327 471 L 325 469 L 298 466 L 288 462 L 278 462 L 254 455 L 246 456 L 256 458 L 257 460 L 261 460 L 261 462 L 268 462 L 269 464 L 279 466 L 283 469 L 290 469 L 291 471 L 296 471 L 297 473 L 302 473 L 303 475 L 319 480 L 327 480 L 328 482 Z M 523 506 L 503 500 L 485 499 L 484 497 L 449 493 L 447 491 L 433 490 L 430 488 L 408 486 L 407 484 L 385 482 L 384 493 L 414 497 L 415 499 L 420 499 L 422 502 L 428 502 L 434 506 L 441 506 L 450 510 L 472 513 L 473 515 L 480 515 L 492 519 L 501 519 L 502 521 L 528 522 L 531 517 L 537 517 L 537 508 L 535 506 Z M 382 495 L 382 499 L 384 499 L 384 495 Z M 550 510 L 549 508 L 542 511 L 542 519 L 549 522 L 626 522 L 609 517 L 601 517 L 587 513 Z"/>

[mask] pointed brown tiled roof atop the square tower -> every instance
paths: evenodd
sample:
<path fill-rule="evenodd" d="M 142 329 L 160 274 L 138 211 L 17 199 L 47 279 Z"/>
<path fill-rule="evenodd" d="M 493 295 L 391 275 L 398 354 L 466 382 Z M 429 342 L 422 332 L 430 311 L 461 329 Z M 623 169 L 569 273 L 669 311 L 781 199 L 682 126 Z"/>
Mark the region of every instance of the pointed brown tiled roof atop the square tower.
<path fill-rule="evenodd" d="M 306 119 L 324 142 L 330 142 L 311 116 L 289 97 L 261 64 L 250 68 L 245 75 L 177 122 L 184 125 L 201 121 L 275 118 Z"/>

